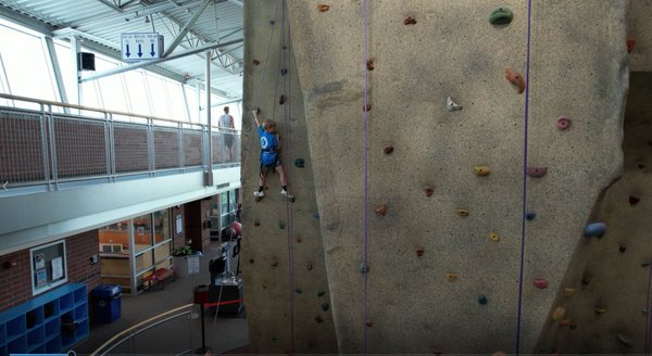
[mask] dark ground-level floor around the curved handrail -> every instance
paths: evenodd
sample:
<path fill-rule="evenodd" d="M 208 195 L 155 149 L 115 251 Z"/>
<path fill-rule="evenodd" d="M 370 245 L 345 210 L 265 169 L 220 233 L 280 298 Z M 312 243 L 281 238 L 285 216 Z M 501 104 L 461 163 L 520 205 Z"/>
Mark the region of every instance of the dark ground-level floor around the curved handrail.
<path fill-rule="evenodd" d="M 218 256 L 220 242 L 213 241 L 200 260 L 200 275 L 177 278 L 164 289 L 152 288 L 138 295 L 123 295 L 121 317 L 111 323 L 92 322 L 90 336 L 77 344 L 77 355 L 92 354 L 112 336 L 153 316 L 192 304 L 196 287 L 210 283 L 209 262 Z M 236 266 L 233 266 L 235 271 Z M 92 306 L 91 306 L 92 308 Z M 111 354 L 178 354 L 184 351 L 202 352 L 201 313 L 199 305 L 189 307 L 191 313 L 158 327 L 153 327 L 116 347 Z M 184 309 L 186 310 L 186 309 Z M 183 312 L 183 310 L 181 310 Z M 181 313 L 179 312 L 179 313 Z M 175 313 L 176 314 L 176 313 Z M 204 312 L 205 348 L 213 354 L 241 352 L 249 344 L 246 312 L 239 314 Z"/>

